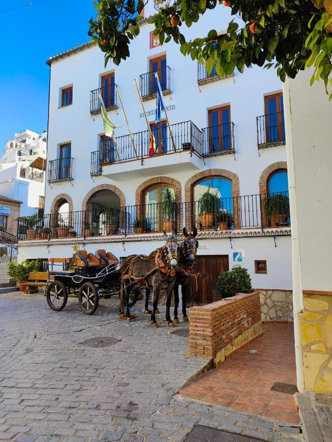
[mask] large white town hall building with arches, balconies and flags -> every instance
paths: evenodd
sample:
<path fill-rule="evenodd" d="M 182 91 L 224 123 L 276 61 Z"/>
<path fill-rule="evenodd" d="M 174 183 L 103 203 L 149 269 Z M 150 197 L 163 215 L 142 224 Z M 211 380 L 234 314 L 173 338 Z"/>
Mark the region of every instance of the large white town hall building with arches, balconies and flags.
<path fill-rule="evenodd" d="M 149 3 L 145 15 L 152 14 Z M 181 32 L 187 39 L 205 35 L 206 29 L 222 32 L 229 21 L 227 8 L 223 14 L 206 11 L 195 27 L 183 26 Z M 69 257 L 74 246 L 83 245 L 89 252 L 107 249 L 119 258 L 150 253 L 164 244 L 163 228 L 181 232 L 196 226 L 196 268 L 209 278 L 192 294 L 192 303 L 211 302 L 220 271 L 241 265 L 253 287 L 262 290 L 263 303 L 271 294 L 279 302 L 264 304 L 265 319 L 288 319 L 289 215 L 268 212 L 276 202 L 272 196 L 280 196 L 281 204 L 288 198 L 280 80 L 273 70 L 259 67 L 230 78 L 218 77 L 215 70 L 208 75 L 175 43 L 160 46 L 147 19 L 140 29 L 130 57 L 120 66 L 109 63 L 105 69 L 103 53 L 91 42 L 48 61 L 48 184 L 42 224 L 49 235 L 41 238 L 38 228 L 23 235 L 19 259 Z M 154 123 L 154 72 L 172 134 L 165 120 Z M 134 79 L 156 140 L 153 156 Z M 116 146 L 104 136 L 98 93 L 111 120 L 122 126 L 114 133 Z M 204 206 L 207 191 L 216 198 Z M 171 195 L 171 210 L 165 210 L 166 194 Z"/>

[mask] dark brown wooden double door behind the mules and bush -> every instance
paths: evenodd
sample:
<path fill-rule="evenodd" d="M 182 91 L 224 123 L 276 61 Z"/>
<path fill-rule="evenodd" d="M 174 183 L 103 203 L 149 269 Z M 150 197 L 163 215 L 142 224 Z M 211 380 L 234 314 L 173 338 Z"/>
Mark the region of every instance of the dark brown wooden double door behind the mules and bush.
<path fill-rule="evenodd" d="M 213 290 L 216 288 L 218 276 L 221 272 L 230 270 L 228 255 L 201 255 L 196 257 L 194 267 L 196 272 L 206 273 L 206 279 L 198 279 L 196 292 L 195 278 L 190 280 L 190 289 L 187 306 L 205 305 L 213 302 Z"/>

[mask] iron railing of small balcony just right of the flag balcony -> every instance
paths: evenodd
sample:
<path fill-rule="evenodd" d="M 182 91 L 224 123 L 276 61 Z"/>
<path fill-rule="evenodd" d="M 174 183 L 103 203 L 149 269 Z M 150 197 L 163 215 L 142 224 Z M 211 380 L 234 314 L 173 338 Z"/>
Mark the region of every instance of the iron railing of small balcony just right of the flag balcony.
<path fill-rule="evenodd" d="M 204 156 L 235 150 L 234 123 L 219 124 L 202 129 Z"/>

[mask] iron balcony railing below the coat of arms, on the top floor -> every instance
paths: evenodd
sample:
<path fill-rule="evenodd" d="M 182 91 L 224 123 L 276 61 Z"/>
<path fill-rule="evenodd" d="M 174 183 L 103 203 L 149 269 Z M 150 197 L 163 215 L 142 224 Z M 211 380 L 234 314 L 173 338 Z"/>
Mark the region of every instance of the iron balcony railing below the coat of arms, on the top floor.
<path fill-rule="evenodd" d="M 155 73 L 158 74 L 163 95 L 171 94 L 171 71 L 169 66 L 165 66 L 156 71 L 150 71 L 139 76 L 139 90 L 143 101 L 153 100 L 153 98 L 156 97 L 157 82 Z"/>

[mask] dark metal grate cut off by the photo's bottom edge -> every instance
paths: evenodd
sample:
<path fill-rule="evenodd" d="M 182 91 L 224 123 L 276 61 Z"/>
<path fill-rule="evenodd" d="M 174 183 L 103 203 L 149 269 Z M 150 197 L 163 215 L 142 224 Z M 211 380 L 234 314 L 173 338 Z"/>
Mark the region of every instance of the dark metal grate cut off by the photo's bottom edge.
<path fill-rule="evenodd" d="M 223 430 L 216 430 L 215 428 L 204 427 L 202 425 L 195 425 L 185 442 L 254 442 L 259 439 L 241 436 L 240 434 L 228 433 Z"/>

